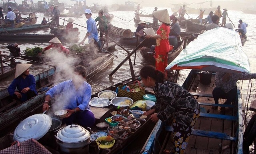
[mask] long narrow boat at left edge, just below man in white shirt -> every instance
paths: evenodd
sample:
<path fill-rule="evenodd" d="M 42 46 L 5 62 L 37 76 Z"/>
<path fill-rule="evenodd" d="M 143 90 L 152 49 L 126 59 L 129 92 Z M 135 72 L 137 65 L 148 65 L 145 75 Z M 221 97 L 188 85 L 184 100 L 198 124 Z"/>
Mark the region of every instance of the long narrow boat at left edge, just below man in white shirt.
<path fill-rule="evenodd" d="M 26 32 L 32 30 L 38 30 L 43 28 L 49 28 L 49 25 L 41 25 L 41 24 L 34 24 L 34 25 L 24 25 L 20 28 L 5 28 L 8 33 L 16 33 L 16 32 Z M 0 28 L 0 33 L 6 34 L 6 31 Z"/>

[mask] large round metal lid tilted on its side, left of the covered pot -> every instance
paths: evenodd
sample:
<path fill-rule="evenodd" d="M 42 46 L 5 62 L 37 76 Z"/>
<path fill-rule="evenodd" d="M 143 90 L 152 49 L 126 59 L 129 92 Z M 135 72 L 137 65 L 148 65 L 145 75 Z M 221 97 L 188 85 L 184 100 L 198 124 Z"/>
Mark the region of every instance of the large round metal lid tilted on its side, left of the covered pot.
<path fill-rule="evenodd" d="M 39 140 L 48 132 L 51 125 L 52 118 L 47 114 L 34 114 L 20 122 L 14 130 L 13 139 L 19 142 L 30 138 Z"/>

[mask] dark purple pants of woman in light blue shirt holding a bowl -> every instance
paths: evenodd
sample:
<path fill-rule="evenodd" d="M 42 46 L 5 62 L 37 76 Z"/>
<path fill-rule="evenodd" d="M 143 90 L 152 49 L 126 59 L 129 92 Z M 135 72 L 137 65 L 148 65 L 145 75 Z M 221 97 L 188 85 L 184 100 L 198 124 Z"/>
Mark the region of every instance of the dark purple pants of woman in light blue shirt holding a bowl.
<path fill-rule="evenodd" d="M 84 128 L 91 127 L 95 123 L 94 114 L 88 110 L 83 112 L 76 112 L 71 114 L 70 117 L 62 119 L 62 122 L 65 122 L 66 125 L 78 124 Z"/>

